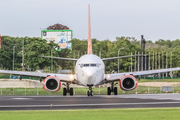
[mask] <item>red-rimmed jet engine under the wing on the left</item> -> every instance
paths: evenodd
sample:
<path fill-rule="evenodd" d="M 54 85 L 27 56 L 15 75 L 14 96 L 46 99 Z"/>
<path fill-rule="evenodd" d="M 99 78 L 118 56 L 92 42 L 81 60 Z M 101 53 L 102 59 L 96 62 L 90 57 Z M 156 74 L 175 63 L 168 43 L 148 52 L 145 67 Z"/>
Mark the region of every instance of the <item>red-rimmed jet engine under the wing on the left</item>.
<path fill-rule="evenodd" d="M 43 88 L 46 91 L 57 92 L 61 88 L 61 81 L 55 76 L 49 76 L 44 80 Z"/>

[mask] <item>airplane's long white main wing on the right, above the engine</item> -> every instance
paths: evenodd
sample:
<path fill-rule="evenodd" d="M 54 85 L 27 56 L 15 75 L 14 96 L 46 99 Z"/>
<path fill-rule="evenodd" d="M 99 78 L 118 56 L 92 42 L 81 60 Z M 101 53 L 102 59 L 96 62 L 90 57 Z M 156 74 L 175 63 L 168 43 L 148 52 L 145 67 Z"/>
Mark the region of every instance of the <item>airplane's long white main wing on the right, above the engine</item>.
<path fill-rule="evenodd" d="M 126 72 L 126 73 L 117 73 L 117 74 L 106 74 L 105 79 L 107 82 L 111 82 L 111 81 L 119 81 L 125 75 L 132 75 L 132 76 L 137 77 L 137 76 L 154 75 L 158 73 L 167 73 L 167 72 L 179 71 L 179 70 L 180 70 L 180 67 L 158 69 L 158 70 L 137 71 L 137 72 Z"/>

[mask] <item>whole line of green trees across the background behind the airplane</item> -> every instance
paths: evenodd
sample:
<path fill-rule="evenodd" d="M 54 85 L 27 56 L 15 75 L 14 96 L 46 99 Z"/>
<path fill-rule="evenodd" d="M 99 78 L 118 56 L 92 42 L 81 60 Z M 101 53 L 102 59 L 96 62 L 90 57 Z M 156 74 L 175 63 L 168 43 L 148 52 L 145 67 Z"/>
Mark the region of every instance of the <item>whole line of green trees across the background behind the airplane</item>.
<path fill-rule="evenodd" d="M 1 49 L 0 49 L 0 67 L 1 69 L 12 70 L 13 65 L 13 47 L 15 46 L 14 54 L 14 69 L 22 70 L 22 47 L 24 40 L 24 63 L 25 68 L 31 68 L 31 71 L 37 69 L 44 69 L 48 71 L 53 68 L 56 72 L 58 69 L 71 69 L 74 71 L 75 63 L 73 61 L 55 60 L 53 59 L 53 67 L 51 68 L 51 59 L 42 58 L 39 55 L 55 57 L 68 57 L 68 58 L 80 58 L 87 52 L 87 40 L 80 40 L 74 38 L 72 42 L 72 51 L 69 49 L 63 49 L 56 51 L 57 45 L 53 42 L 46 43 L 46 40 L 37 37 L 10 37 L 2 36 Z M 93 54 L 101 58 L 117 57 L 118 50 L 119 56 L 131 55 L 131 53 L 141 53 L 140 40 L 134 37 L 116 37 L 115 41 L 110 40 L 97 40 L 92 39 Z M 167 67 L 180 66 L 180 40 L 163 40 L 159 39 L 156 42 L 151 40 L 146 41 L 145 52 L 150 54 L 150 66 L 152 68 L 165 68 L 166 61 Z M 154 57 L 153 57 L 154 52 Z M 172 53 L 172 57 L 171 57 Z M 167 54 L 167 55 L 166 55 Z M 159 61 L 160 56 L 160 61 Z M 153 59 L 154 58 L 154 59 Z M 171 60 L 172 58 L 172 60 Z M 135 57 L 132 58 L 132 70 L 135 69 Z M 154 60 L 154 66 L 153 66 Z M 163 62 L 164 61 L 164 62 Z M 104 62 L 106 65 L 106 73 L 110 73 L 113 70 L 118 71 L 118 60 L 110 60 Z M 160 64 L 160 66 L 159 66 Z M 119 72 L 127 72 L 130 70 L 131 58 L 119 59 Z"/>

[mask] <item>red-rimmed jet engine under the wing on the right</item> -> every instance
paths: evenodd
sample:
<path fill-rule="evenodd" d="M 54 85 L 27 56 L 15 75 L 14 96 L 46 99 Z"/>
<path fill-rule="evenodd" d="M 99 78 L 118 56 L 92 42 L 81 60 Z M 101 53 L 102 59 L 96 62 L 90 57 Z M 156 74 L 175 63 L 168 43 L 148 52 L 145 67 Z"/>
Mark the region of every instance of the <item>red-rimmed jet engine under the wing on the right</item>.
<path fill-rule="evenodd" d="M 122 90 L 134 90 L 137 87 L 137 80 L 132 75 L 125 75 L 119 81 L 119 86 Z"/>

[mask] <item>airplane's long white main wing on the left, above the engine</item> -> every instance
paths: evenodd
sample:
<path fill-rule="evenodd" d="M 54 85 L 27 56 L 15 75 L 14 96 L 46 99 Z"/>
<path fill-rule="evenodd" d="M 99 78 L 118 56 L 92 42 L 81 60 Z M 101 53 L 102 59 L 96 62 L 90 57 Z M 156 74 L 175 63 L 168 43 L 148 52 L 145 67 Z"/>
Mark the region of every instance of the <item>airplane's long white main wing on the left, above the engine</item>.
<path fill-rule="evenodd" d="M 74 80 L 74 75 L 71 74 L 53 74 L 53 73 L 37 73 L 37 72 L 25 72 L 25 71 L 11 71 L 11 70 L 0 70 L 0 73 L 12 74 L 18 76 L 28 76 L 44 79 L 48 76 L 56 76 L 62 82 L 72 82 Z"/>

